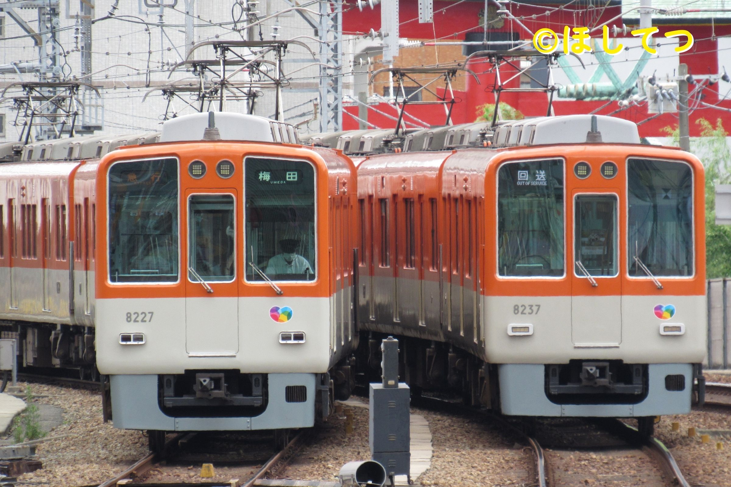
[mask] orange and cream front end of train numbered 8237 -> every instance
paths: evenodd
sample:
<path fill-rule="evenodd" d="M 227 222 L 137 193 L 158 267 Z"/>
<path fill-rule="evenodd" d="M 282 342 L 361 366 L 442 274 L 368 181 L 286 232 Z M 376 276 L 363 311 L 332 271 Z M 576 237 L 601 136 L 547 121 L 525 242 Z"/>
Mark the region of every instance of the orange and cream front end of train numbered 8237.
<path fill-rule="evenodd" d="M 504 151 L 487 179 L 485 353 L 502 412 L 645 426 L 689 413 L 706 346 L 700 161 L 547 145 Z"/>

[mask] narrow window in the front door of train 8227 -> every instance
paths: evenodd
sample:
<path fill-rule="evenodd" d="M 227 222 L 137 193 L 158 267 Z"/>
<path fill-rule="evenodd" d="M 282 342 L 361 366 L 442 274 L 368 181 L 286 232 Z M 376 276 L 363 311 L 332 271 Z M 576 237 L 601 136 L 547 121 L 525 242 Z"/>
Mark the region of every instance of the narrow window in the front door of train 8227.
<path fill-rule="evenodd" d="M 208 282 L 234 277 L 234 199 L 230 194 L 194 194 L 188 199 L 188 265 Z M 196 282 L 194 272 L 189 279 Z"/>

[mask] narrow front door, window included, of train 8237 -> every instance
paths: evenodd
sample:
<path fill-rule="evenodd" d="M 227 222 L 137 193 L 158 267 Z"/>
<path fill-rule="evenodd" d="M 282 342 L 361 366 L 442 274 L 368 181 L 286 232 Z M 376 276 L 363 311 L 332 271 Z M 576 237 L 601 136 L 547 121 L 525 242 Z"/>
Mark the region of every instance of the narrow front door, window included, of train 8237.
<path fill-rule="evenodd" d="M 622 340 L 619 199 L 612 191 L 574 191 L 571 334 L 577 347 Z"/>

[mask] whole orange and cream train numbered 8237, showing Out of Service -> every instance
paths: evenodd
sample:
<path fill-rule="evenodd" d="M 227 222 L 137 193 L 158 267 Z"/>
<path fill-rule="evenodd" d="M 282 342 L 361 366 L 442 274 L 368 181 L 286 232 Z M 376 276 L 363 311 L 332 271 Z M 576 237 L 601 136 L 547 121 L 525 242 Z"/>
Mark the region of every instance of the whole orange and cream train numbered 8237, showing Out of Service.
<path fill-rule="evenodd" d="M 377 369 L 393 334 L 412 388 L 507 415 L 647 431 L 688 413 L 706 346 L 700 161 L 601 116 L 506 123 L 491 142 L 358 164 L 358 363 Z"/>

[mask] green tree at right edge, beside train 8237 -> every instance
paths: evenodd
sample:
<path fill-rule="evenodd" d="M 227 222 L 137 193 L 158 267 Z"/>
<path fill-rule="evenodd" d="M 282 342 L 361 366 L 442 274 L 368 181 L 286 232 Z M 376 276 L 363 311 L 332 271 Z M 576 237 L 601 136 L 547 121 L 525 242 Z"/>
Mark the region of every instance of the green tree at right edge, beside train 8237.
<path fill-rule="evenodd" d="M 716 225 L 717 184 L 730 184 L 731 150 L 726 144 L 727 131 L 721 119 L 716 125 L 700 118 L 700 138 L 691 139 L 690 151 L 705 166 L 705 275 L 708 279 L 731 276 L 731 226 Z M 662 129 L 680 145 L 678 126 Z"/>

